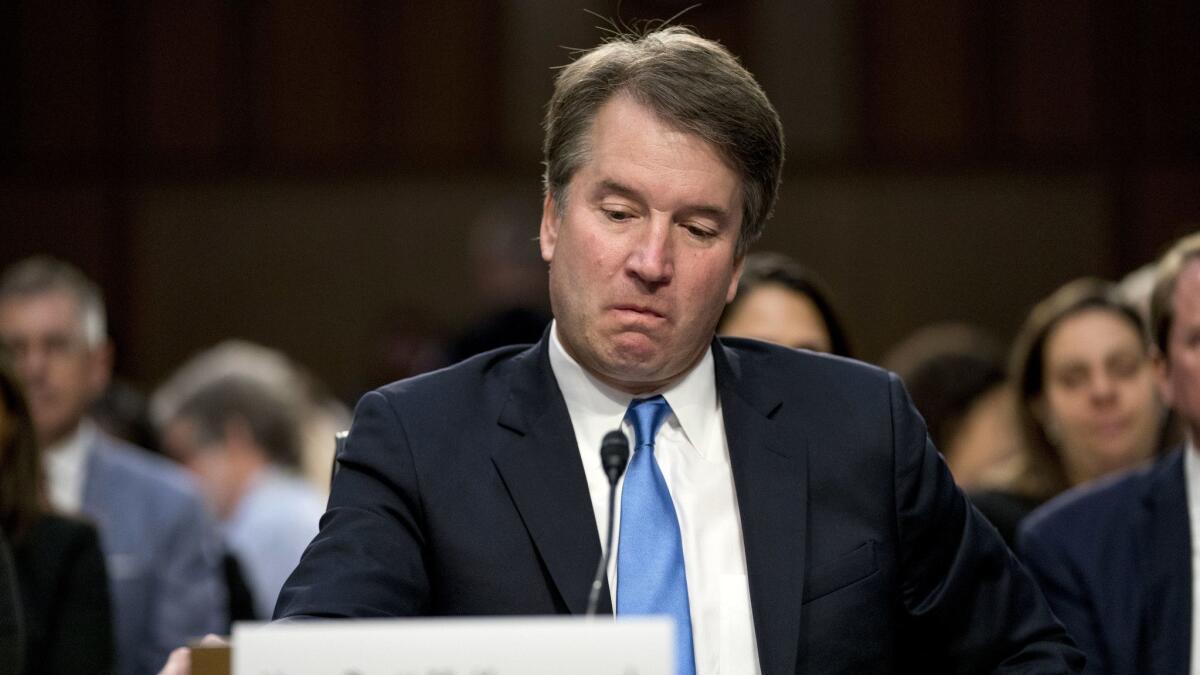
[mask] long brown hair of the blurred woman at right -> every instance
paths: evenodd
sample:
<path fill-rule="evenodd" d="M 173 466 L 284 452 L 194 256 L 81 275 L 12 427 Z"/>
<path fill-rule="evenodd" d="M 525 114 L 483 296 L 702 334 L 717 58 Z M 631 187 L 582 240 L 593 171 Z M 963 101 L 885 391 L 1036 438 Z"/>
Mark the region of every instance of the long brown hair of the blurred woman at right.
<path fill-rule="evenodd" d="M 1102 310 L 1123 319 L 1146 342 L 1146 328 L 1129 304 L 1121 300 L 1112 283 L 1099 279 L 1076 279 L 1034 305 L 1013 344 L 1009 375 L 1016 386 L 1016 407 L 1025 441 L 1025 466 L 1014 488 L 1027 496 L 1049 498 L 1070 486 L 1062 455 L 1034 417 L 1034 401 L 1045 388 L 1045 344 L 1063 319 L 1085 310 Z M 1147 344 L 1148 348 L 1148 344 Z"/>

